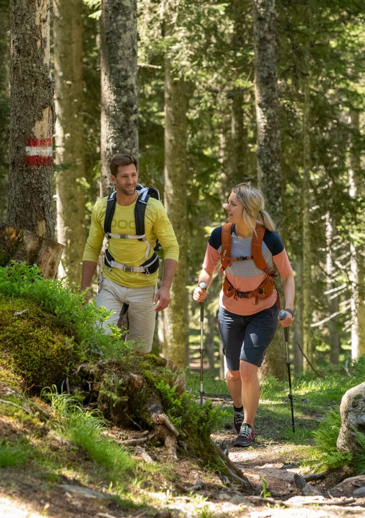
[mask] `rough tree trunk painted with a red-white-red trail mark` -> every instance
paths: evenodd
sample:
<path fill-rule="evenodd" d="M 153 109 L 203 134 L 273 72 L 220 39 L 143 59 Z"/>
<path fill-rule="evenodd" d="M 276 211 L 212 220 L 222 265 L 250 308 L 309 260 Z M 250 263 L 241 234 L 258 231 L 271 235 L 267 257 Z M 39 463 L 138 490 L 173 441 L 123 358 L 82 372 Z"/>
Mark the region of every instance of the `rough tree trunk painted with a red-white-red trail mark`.
<path fill-rule="evenodd" d="M 54 238 L 49 0 L 10 2 L 9 225 Z"/>

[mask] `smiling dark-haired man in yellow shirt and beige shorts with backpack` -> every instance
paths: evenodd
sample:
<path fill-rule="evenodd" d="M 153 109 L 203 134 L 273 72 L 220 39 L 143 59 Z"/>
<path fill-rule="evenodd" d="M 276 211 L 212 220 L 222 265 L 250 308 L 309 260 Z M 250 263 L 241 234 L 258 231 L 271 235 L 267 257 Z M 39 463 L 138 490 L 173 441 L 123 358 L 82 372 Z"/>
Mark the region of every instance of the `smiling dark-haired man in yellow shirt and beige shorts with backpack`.
<path fill-rule="evenodd" d="M 103 323 L 103 328 L 107 332 L 109 324 L 117 325 L 121 312 L 128 307 L 127 340 L 136 343 L 137 352 L 148 353 L 152 348 L 156 312 L 170 303 L 179 247 L 162 203 L 151 196 L 146 199 L 138 195 L 135 157 L 117 154 L 110 162 L 110 175 L 116 191 L 114 199 L 113 195 L 106 196 L 97 200 L 93 207 L 89 237 L 82 257 L 81 291 L 90 286 L 106 235 L 108 244 L 103 275 L 95 302 L 98 307 L 103 306 L 113 313 Z M 109 214 L 110 228 L 105 230 L 109 203 L 114 212 Z M 159 289 L 160 260 L 154 250 L 157 240 L 164 252 Z"/>

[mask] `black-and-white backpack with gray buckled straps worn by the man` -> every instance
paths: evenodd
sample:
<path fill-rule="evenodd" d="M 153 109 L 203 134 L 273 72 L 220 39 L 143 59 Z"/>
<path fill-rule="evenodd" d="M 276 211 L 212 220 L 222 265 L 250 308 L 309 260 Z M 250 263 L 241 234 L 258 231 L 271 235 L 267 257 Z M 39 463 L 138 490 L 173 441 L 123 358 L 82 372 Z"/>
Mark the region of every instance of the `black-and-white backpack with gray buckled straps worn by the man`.
<path fill-rule="evenodd" d="M 108 250 L 108 247 L 105 249 L 105 257 L 104 264 L 108 268 L 119 268 L 123 271 L 139 271 L 142 274 L 149 275 L 153 274 L 160 265 L 160 259 L 157 255 L 157 251 L 161 250 L 160 243 L 158 240 L 156 241 L 155 246 L 149 243 L 146 239 L 145 234 L 145 212 L 148 200 L 150 197 L 156 198 L 161 201 L 160 193 L 158 189 L 155 187 L 144 187 L 141 183 L 137 183 L 137 192 L 138 197 L 136 201 L 136 206 L 134 209 L 134 219 L 136 225 L 136 235 L 128 235 L 128 234 L 112 234 L 111 233 L 111 220 L 113 220 L 113 215 L 115 211 L 115 204 L 117 201 L 117 191 L 109 194 L 107 202 L 106 202 L 106 211 L 105 211 L 105 219 L 104 219 L 104 231 L 105 237 L 107 238 L 107 243 L 110 238 L 115 239 L 138 239 L 138 241 L 144 241 L 147 247 L 146 250 L 146 261 L 140 266 L 129 266 L 117 263 L 114 260 L 113 255 Z M 153 248 L 153 255 L 149 258 L 149 252 Z"/>

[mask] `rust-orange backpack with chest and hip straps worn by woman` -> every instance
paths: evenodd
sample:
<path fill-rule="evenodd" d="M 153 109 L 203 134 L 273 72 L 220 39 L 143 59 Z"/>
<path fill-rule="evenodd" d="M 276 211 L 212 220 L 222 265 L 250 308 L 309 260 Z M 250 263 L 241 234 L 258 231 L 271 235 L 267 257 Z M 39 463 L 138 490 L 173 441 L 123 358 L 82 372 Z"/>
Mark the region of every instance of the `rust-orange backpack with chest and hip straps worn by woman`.
<path fill-rule="evenodd" d="M 255 297 L 255 304 L 258 304 L 259 298 L 267 298 L 269 297 L 274 290 L 276 290 L 275 283 L 273 281 L 273 277 L 277 277 L 277 272 L 269 268 L 266 264 L 266 261 L 262 255 L 262 240 L 265 234 L 265 227 L 260 222 L 256 222 L 256 234 L 252 236 L 251 243 L 251 255 L 247 255 L 246 257 L 231 257 L 231 242 L 232 242 L 232 228 L 233 223 L 225 223 L 222 225 L 222 249 L 220 253 L 220 262 L 221 266 L 219 268 L 219 272 L 222 273 L 228 266 L 231 265 L 232 261 L 254 261 L 256 267 L 259 270 L 262 270 L 266 274 L 266 278 L 261 282 L 261 284 L 256 288 L 256 290 L 252 290 L 249 292 L 241 292 L 235 289 L 234 286 L 229 282 L 227 276 L 224 275 L 223 280 L 223 293 L 227 297 L 232 297 L 234 295 L 235 300 L 238 298 L 252 298 Z M 279 293 L 277 292 L 277 300 L 278 307 L 280 307 L 279 301 Z"/>

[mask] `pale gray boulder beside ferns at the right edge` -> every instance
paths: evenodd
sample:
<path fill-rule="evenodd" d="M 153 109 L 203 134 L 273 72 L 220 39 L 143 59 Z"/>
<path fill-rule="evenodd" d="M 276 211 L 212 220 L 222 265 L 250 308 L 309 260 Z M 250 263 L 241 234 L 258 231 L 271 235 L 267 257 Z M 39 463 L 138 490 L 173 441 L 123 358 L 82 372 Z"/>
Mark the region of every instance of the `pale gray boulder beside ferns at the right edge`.
<path fill-rule="evenodd" d="M 356 431 L 365 435 L 365 383 L 349 389 L 342 396 L 340 414 L 341 428 L 337 449 L 354 453 L 360 450 Z"/>

